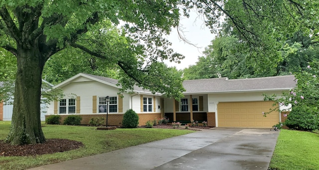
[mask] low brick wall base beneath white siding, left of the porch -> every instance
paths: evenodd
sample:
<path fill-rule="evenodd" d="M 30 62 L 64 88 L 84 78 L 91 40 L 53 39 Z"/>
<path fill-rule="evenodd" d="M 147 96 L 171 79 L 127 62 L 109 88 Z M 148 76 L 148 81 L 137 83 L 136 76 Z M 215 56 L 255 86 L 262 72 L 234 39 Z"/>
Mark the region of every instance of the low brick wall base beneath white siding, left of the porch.
<path fill-rule="evenodd" d="M 90 114 L 90 115 L 84 115 L 84 114 L 78 114 L 82 117 L 81 125 L 89 125 L 89 122 L 91 118 L 95 117 L 103 117 L 106 119 L 106 114 Z M 108 115 L 108 125 L 109 126 L 121 126 L 122 120 L 123 120 L 124 114 L 109 114 Z M 150 114 L 138 114 L 139 115 L 139 126 L 146 125 L 147 121 L 153 121 L 155 119 L 160 118 L 160 113 L 150 113 Z M 50 115 L 45 115 L 45 118 L 47 118 Z M 63 124 L 64 119 L 69 115 L 60 115 L 61 116 L 61 124 Z"/>

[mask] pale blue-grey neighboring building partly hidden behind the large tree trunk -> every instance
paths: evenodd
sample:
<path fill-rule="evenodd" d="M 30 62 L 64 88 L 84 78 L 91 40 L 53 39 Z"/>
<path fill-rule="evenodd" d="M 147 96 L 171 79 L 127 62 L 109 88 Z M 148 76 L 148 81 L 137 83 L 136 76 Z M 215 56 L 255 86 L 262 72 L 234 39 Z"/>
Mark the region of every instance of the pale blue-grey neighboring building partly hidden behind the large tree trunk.
<path fill-rule="evenodd" d="M 45 80 L 42 79 L 42 83 L 47 83 L 49 86 L 53 87 L 53 85 Z M 0 82 L 0 87 L 2 86 L 3 82 Z M 13 98 L 13 97 L 12 97 Z M 12 101 L 8 101 L 7 103 L 10 103 Z M 41 113 L 40 118 L 41 121 L 45 121 L 45 115 L 47 110 L 47 104 L 41 104 Z M 5 104 L 5 102 L 0 102 L 0 121 L 11 121 L 12 118 L 12 111 L 13 111 L 13 105 Z"/>

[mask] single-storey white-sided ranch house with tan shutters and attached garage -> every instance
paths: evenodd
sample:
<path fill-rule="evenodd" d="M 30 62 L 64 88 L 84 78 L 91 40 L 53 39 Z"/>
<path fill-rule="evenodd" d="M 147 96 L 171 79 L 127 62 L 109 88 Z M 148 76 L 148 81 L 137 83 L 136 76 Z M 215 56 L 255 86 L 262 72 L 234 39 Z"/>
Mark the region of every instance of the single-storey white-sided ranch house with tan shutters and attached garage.
<path fill-rule="evenodd" d="M 264 101 L 262 94 L 289 91 L 296 86 L 294 78 L 185 80 L 184 98 L 175 101 L 140 87 L 121 97 L 117 80 L 79 73 L 54 87 L 63 89 L 66 97 L 51 102 L 46 116 L 59 114 L 64 119 L 76 114 L 82 116 L 82 124 L 89 124 L 93 117 L 106 117 L 105 97 L 110 96 L 108 124 L 113 126 L 121 125 L 123 114 L 133 109 L 140 117 L 139 125 L 165 116 L 174 122 L 207 121 L 208 126 L 216 127 L 270 128 L 284 117 L 279 112 L 263 116 L 273 108 L 273 102 Z"/>

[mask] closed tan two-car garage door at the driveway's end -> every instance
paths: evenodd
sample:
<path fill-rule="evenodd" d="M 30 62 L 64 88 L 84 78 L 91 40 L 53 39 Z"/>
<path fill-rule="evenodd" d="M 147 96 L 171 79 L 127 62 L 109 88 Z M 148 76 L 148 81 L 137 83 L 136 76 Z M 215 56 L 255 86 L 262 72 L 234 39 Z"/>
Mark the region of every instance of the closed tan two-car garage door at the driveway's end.
<path fill-rule="evenodd" d="M 223 102 L 217 105 L 218 127 L 271 128 L 279 122 L 279 112 L 264 117 L 274 102 Z"/>

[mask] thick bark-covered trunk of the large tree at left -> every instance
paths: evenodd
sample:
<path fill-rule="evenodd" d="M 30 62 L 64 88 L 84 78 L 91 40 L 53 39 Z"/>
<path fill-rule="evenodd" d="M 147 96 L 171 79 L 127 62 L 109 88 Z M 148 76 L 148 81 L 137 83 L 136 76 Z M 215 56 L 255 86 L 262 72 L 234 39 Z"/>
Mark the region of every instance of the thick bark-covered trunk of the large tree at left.
<path fill-rule="evenodd" d="M 23 45 L 21 45 L 23 46 Z M 13 115 L 6 142 L 10 145 L 44 143 L 40 120 L 41 77 L 45 61 L 35 45 L 17 47 Z"/>

